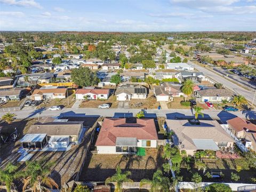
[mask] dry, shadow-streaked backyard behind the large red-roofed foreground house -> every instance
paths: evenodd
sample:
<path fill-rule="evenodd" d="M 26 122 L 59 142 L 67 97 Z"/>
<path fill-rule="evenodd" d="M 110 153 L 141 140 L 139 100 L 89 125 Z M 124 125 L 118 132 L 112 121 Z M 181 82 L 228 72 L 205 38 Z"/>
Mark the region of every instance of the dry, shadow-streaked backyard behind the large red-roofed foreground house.
<path fill-rule="evenodd" d="M 163 164 L 162 148 L 146 149 L 146 156 L 123 156 L 113 154 L 90 154 L 86 159 L 80 181 L 105 181 L 115 174 L 120 166 L 122 170 L 131 171 L 133 181 L 151 179 L 158 167 Z M 99 174 L 95 174 L 99 173 Z"/>

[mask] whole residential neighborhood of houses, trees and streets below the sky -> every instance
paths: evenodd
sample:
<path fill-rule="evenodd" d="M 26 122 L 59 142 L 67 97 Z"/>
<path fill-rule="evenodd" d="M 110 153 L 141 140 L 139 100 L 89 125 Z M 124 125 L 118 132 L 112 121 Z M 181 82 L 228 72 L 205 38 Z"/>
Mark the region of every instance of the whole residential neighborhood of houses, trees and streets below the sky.
<path fill-rule="evenodd" d="M 200 34 L 1 32 L 0 191 L 255 191 L 256 34 Z"/>

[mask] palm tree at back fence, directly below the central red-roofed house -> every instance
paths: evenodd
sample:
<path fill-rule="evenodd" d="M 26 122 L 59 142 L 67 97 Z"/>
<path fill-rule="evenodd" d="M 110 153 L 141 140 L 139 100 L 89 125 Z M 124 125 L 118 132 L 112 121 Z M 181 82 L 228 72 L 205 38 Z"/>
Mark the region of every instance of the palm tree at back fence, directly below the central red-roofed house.
<path fill-rule="evenodd" d="M 116 168 L 116 173 L 112 176 L 106 179 L 106 183 L 109 182 L 116 182 L 116 189 L 117 191 L 121 191 L 122 183 L 123 182 L 133 182 L 133 180 L 127 178 L 132 173 L 130 171 L 125 171 L 122 173 L 121 168 L 118 166 Z"/>

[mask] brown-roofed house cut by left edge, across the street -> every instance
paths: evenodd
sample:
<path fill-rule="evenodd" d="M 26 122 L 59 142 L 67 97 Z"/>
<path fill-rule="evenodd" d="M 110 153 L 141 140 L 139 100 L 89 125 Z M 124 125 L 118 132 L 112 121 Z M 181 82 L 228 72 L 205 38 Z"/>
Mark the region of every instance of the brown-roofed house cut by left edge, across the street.
<path fill-rule="evenodd" d="M 24 89 L 20 88 L 12 88 L 7 90 L 1 90 L 0 91 L 0 101 L 7 102 L 9 100 L 11 101 L 19 101 L 22 97 L 22 95 L 25 95 L 27 92 Z M 18 107 L 18 106 L 17 106 Z"/>

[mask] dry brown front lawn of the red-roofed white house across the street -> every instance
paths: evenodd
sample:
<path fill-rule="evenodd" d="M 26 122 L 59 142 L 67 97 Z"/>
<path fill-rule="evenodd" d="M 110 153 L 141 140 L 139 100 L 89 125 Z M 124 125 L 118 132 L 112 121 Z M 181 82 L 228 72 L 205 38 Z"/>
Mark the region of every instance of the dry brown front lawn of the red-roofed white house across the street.
<path fill-rule="evenodd" d="M 110 95 L 108 100 L 101 101 L 101 100 L 89 100 L 89 101 L 82 101 L 80 106 L 81 108 L 98 108 L 99 105 L 108 103 L 110 108 L 117 108 L 118 101 L 116 101 L 116 97 L 114 95 Z"/>

